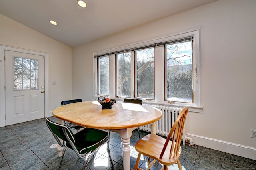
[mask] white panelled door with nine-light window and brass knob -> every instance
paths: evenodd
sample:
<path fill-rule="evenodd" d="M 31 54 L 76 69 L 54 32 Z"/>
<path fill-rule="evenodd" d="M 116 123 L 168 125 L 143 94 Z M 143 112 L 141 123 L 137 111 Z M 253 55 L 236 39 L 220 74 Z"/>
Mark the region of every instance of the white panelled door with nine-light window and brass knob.
<path fill-rule="evenodd" d="M 44 56 L 5 50 L 5 125 L 44 117 Z"/>

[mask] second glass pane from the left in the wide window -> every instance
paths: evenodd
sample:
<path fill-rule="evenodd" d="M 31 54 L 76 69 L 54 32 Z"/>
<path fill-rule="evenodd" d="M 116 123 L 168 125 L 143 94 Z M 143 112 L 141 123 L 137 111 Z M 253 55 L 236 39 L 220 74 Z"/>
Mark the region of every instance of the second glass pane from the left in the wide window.
<path fill-rule="evenodd" d="M 131 97 L 131 53 L 116 55 L 117 96 Z"/>

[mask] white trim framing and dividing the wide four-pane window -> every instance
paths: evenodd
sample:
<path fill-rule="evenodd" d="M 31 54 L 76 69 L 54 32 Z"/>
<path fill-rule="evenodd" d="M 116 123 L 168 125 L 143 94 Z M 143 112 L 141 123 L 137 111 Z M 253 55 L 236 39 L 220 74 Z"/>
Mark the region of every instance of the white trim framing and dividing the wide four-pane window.
<path fill-rule="evenodd" d="M 194 103 L 182 103 L 182 102 L 175 102 L 175 103 L 168 103 L 168 101 L 164 101 L 164 50 L 160 50 L 163 47 L 155 47 L 155 53 L 156 55 L 160 53 L 160 58 L 155 56 L 155 100 L 154 101 L 143 101 L 143 103 L 148 103 L 148 104 L 159 104 L 159 105 L 171 105 L 174 107 L 184 107 L 188 106 L 190 109 L 189 111 L 191 112 L 197 112 L 197 113 L 202 113 L 202 103 L 201 103 L 201 74 L 200 74 L 200 69 L 201 69 L 201 62 L 200 62 L 200 29 L 198 30 L 193 30 L 190 32 L 186 33 L 180 33 L 164 38 L 159 38 L 155 40 L 148 40 L 146 42 L 141 42 L 141 43 L 136 43 L 136 44 L 131 44 L 131 45 L 126 45 L 122 47 L 117 47 L 114 49 L 109 49 L 106 51 L 99 51 L 93 53 L 93 56 L 97 55 L 102 55 L 105 53 L 111 53 L 114 51 L 121 51 L 124 49 L 129 49 L 129 48 L 135 48 L 135 47 L 140 47 L 140 46 L 146 46 L 150 45 L 152 43 L 159 43 L 159 42 L 166 42 L 169 40 L 175 40 L 178 38 L 184 38 L 186 36 L 194 36 L 194 50 L 193 50 L 193 57 L 194 57 Z M 116 94 L 116 89 L 115 89 L 115 55 L 109 55 L 110 59 L 110 97 L 114 98 Z M 196 65 L 197 65 L 197 70 L 196 70 Z M 197 72 L 197 76 L 196 76 Z M 98 98 L 97 95 L 97 58 L 94 58 L 94 97 L 95 99 Z M 133 95 L 132 95 L 133 96 Z"/>

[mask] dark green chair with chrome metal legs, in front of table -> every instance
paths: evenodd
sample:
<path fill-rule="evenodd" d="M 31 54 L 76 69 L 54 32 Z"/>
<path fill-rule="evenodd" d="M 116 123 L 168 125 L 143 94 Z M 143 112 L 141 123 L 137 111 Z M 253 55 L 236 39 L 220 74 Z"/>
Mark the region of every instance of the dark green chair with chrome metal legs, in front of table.
<path fill-rule="evenodd" d="M 52 132 L 54 138 L 61 147 L 64 147 L 62 158 L 60 160 L 59 170 L 62 165 L 67 148 L 74 150 L 79 158 L 86 158 L 84 170 L 88 161 L 102 145 L 107 143 L 108 156 L 113 169 L 113 162 L 109 150 L 109 133 L 99 129 L 84 128 L 80 132 L 73 134 L 73 132 L 66 125 L 61 125 L 46 118 L 46 124 Z M 60 141 L 60 139 L 62 141 Z"/>

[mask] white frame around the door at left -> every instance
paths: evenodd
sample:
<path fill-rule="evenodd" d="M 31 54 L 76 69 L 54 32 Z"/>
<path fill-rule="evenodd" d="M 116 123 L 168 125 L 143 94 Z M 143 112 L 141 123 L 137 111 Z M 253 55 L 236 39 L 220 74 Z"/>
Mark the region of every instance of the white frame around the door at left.
<path fill-rule="evenodd" d="M 29 49 L 21 49 L 16 47 L 10 47 L 5 45 L 0 45 L 0 127 L 5 126 L 5 61 L 4 54 L 5 50 L 21 52 L 21 53 L 29 53 L 34 55 L 42 55 L 45 56 L 44 60 L 44 117 L 49 117 L 49 86 L 48 86 L 48 61 L 49 54 L 39 51 L 32 51 Z"/>

